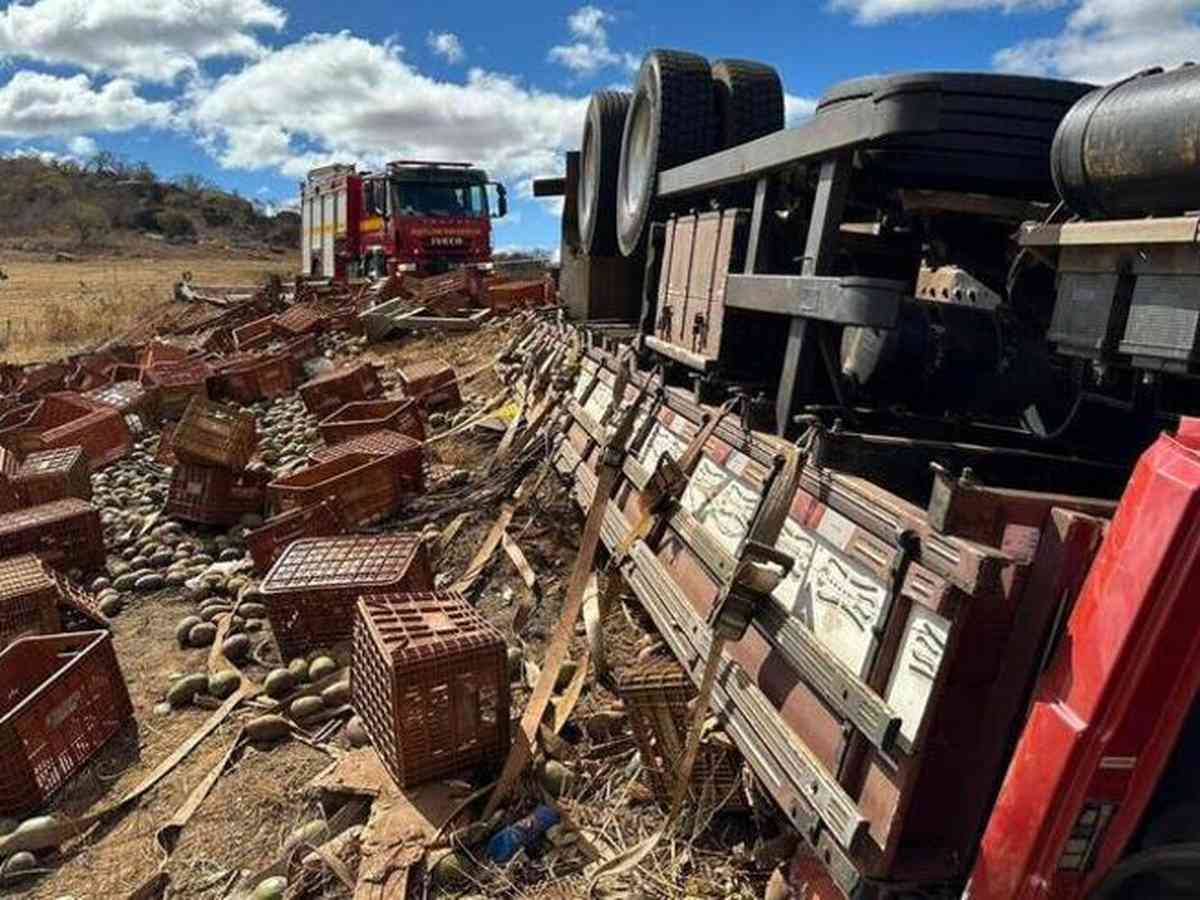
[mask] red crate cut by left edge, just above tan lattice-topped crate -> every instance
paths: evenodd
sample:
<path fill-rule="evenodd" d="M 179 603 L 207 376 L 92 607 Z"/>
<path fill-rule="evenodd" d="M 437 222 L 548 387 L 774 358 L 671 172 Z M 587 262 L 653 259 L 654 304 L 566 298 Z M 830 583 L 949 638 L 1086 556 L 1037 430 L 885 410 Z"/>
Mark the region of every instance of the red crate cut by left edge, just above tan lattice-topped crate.
<path fill-rule="evenodd" d="M 68 497 L 0 516 L 0 558 L 34 553 L 55 569 L 104 565 L 100 510 Z"/>

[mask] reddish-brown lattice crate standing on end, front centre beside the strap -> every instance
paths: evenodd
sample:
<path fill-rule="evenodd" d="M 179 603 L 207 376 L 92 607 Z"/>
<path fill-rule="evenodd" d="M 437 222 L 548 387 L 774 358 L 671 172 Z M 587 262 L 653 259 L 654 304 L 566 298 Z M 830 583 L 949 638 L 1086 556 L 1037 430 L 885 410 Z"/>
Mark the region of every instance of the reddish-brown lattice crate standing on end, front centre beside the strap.
<path fill-rule="evenodd" d="M 356 604 L 352 702 L 396 784 L 504 760 L 506 661 L 504 637 L 457 593 L 371 594 Z"/>

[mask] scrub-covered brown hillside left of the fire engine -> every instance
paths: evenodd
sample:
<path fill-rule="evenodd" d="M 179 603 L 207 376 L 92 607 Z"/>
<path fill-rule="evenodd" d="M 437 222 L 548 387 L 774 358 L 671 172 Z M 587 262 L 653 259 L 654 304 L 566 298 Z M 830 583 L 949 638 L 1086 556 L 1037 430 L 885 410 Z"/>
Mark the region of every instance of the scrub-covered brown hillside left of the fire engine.
<path fill-rule="evenodd" d="M 0 160 L 0 265 L 47 252 L 187 257 L 206 246 L 278 254 L 300 234 L 295 212 L 268 215 L 202 178 L 162 181 L 145 163 L 108 154 L 85 166 Z"/>

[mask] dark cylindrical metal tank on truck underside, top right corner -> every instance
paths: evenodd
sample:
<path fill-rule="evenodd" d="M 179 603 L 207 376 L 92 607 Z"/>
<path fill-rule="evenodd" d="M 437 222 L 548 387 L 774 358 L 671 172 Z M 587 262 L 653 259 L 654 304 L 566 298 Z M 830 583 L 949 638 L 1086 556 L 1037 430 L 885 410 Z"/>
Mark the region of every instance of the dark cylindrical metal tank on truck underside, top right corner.
<path fill-rule="evenodd" d="M 1147 70 L 1085 96 L 1058 125 L 1050 169 L 1085 218 L 1200 210 L 1200 66 Z"/>

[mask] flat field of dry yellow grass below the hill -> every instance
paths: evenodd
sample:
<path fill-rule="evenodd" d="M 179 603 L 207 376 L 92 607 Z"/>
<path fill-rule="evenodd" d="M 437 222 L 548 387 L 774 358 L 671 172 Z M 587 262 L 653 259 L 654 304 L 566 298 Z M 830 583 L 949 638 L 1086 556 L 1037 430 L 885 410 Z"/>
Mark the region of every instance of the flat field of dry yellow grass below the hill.
<path fill-rule="evenodd" d="M 198 284 L 258 284 L 289 274 L 290 258 L 88 259 L 4 263 L 0 359 L 54 359 L 120 334 L 140 312 L 169 300 L 180 274 Z"/>

